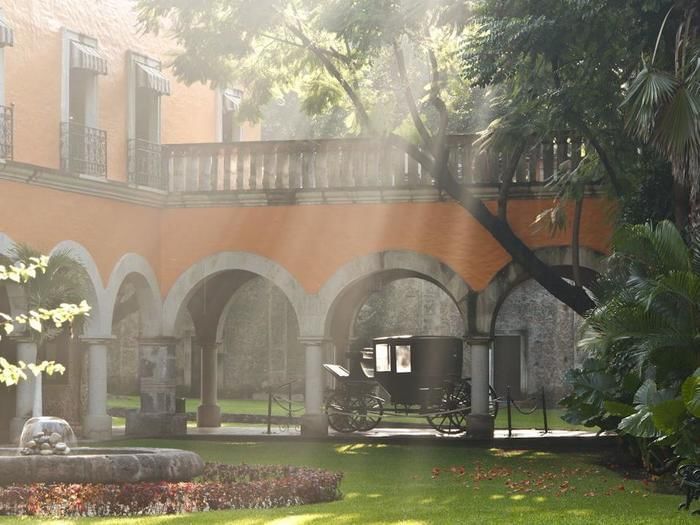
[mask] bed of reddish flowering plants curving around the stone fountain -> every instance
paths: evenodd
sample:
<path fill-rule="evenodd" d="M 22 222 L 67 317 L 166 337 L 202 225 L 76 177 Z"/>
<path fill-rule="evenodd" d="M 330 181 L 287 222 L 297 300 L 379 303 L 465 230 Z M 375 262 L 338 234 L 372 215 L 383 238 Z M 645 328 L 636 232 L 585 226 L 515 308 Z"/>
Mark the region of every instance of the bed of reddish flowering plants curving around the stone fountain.
<path fill-rule="evenodd" d="M 333 501 L 342 474 L 289 466 L 207 463 L 192 482 L 35 483 L 0 488 L 0 515 L 139 516 Z"/>

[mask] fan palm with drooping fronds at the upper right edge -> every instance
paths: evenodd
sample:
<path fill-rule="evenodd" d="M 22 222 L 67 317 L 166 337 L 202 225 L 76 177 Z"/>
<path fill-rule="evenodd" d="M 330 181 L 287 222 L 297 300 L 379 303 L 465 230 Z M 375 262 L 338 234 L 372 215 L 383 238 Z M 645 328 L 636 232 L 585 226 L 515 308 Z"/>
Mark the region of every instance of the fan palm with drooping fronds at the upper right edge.
<path fill-rule="evenodd" d="M 657 66 L 664 29 L 682 13 L 667 66 Z M 668 46 L 667 46 L 668 47 Z M 653 145 L 670 163 L 674 177 L 675 219 L 700 235 L 700 12 L 694 1 L 679 0 L 666 13 L 649 63 L 632 81 L 623 105 L 627 128 Z"/>

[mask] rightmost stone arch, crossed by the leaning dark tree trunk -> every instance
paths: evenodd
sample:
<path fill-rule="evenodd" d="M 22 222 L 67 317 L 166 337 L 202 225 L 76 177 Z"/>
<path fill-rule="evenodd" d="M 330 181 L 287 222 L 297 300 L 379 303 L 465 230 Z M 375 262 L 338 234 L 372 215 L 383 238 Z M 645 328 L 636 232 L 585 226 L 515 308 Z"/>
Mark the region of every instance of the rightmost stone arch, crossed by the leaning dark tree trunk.
<path fill-rule="evenodd" d="M 535 250 L 535 254 L 546 264 L 561 270 L 568 275 L 572 265 L 572 250 L 570 246 L 553 246 Z M 584 282 L 590 282 L 600 274 L 605 265 L 605 254 L 587 247 L 580 248 L 579 264 L 583 270 Z M 475 333 L 494 335 L 498 311 L 517 285 L 530 278 L 530 275 L 519 264 L 511 261 L 491 279 L 489 285 L 479 292 L 476 299 L 474 326 L 470 329 Z"/>

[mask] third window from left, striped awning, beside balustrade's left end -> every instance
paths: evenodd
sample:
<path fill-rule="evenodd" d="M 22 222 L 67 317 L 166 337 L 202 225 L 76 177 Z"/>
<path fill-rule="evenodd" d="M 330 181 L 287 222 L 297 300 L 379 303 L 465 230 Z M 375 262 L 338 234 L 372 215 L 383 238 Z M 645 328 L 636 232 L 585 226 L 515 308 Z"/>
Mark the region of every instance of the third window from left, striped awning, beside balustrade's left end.
<path fill-rule="evenodd" d="M 170 81 L 158 60 L 129 53 L 129 182 L 166 189 L 161 177 L 160 98 Z"/>

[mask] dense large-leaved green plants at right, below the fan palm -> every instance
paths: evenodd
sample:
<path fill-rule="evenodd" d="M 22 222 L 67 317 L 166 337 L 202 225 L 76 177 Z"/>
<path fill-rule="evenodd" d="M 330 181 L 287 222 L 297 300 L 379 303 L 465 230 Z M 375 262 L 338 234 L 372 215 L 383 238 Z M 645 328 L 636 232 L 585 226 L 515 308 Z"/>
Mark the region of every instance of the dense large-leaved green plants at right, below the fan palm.
<path fill-rule="evenodd" d="M 571 372 L 568 419 L 637 439 L 650 468 L 664 450 L 700 460 L 700 246 L 668 221 L 623 227 L 595 301 L 580 346 L 596 366 Z"/>

